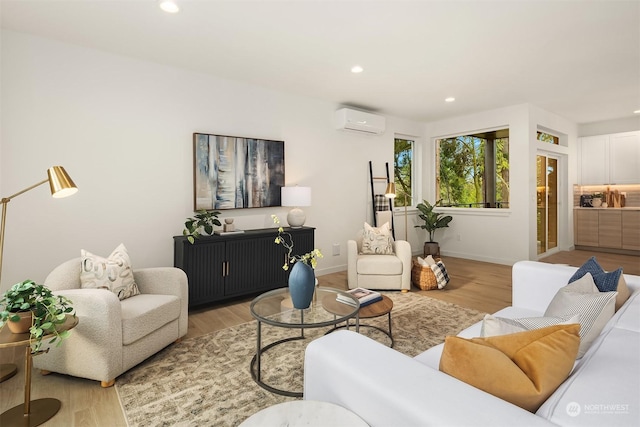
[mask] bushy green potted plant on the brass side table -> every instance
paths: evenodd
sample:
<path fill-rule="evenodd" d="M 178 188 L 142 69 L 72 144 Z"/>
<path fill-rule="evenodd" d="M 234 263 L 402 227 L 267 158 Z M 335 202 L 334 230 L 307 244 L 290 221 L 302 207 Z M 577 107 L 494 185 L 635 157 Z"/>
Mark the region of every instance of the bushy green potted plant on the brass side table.
<path fill-rule="evenodd" d="M 46 335 L 53 335 L 49 341 L 58 345 L 67 338 L 71 331 L 57 330 L 58 325 L 62 325 L 67 314 L 73 314 L 71 301 L 62 296 L 54 295 L 51 289 L 45 285 L 38 285 L 32 280 L 16 283 L 7 290 L 0 298 L 0 328 L 5 324 L 12 329 L 22 320 L 26 323 L 26 329 L 12 330 L 14 333 L 31 334 L 31 348 L 34 353 L 40 350 L 42 338 Z M 29 320 L 30 319 L 30 320 Z"/>

